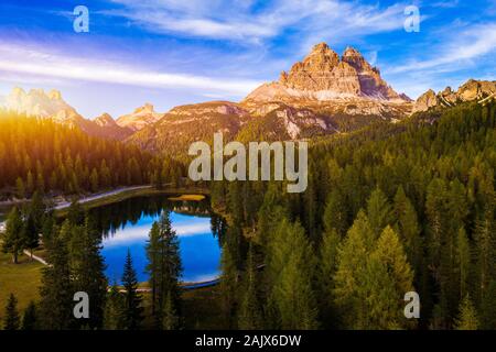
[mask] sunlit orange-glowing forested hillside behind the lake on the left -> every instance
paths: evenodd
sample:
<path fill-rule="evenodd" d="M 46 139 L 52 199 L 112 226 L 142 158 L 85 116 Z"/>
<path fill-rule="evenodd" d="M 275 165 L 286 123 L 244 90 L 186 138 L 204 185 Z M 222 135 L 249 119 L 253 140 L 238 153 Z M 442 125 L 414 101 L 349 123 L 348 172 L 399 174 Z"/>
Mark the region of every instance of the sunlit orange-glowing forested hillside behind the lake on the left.
<path fill-rule="evenodd" d="M 3 198 L 82 194 L 176 179 L 170 161 L 136 146 L 90 138 L 47 119 L 0 116 L 0 190 Z M 174 173 L 174 172 L 173 172 Z"/>

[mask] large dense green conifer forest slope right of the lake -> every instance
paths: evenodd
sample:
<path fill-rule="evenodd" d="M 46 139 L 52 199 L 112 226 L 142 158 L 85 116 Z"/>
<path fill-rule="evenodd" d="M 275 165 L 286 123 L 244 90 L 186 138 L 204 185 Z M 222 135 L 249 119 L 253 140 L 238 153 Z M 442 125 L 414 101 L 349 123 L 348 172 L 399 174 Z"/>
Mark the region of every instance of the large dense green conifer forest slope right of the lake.
<path fill-rule="evenodd" d="M 496 329 L 495 127 L 465 103 L 314 143 L 300 195 L 213 183 L 231 327 Z"/>

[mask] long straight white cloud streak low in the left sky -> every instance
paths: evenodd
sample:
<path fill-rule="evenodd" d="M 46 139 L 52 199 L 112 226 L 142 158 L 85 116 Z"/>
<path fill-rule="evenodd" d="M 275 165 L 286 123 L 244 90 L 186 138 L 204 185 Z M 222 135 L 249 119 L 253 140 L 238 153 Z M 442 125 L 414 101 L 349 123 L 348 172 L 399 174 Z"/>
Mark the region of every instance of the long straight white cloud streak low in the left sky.
<path fill-rule="evenodd" d="M 22 59 L 20 59 L 22 58 Z M 85 80 L 154 88 L 185 88 L 242 97 L 260 82 L 150 70 L 105 59 L 52 54 L 25 45 L 0 44 L 0 70 L 52 79 Z"/>

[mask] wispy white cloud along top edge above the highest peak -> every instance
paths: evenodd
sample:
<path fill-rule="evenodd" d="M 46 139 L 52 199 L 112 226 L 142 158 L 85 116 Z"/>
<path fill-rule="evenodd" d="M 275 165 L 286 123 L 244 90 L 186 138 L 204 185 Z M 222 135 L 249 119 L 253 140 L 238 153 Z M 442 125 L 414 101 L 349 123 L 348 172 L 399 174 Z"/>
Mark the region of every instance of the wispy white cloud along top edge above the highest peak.
<path fill-rule="evenodd" d="M 402 29 L 405 4 L 388 8 L 337 0 L 177 1 L 112 0 L 120 9 L 100 13 L 117 15 L 155 33 L 260 43 L 288 29 L 303 37 L 338 41 L 362 34 Z M 302 38 L 302 37 L 300 37 Z M 315 40 L 313 40 L 315 42 Z"/>

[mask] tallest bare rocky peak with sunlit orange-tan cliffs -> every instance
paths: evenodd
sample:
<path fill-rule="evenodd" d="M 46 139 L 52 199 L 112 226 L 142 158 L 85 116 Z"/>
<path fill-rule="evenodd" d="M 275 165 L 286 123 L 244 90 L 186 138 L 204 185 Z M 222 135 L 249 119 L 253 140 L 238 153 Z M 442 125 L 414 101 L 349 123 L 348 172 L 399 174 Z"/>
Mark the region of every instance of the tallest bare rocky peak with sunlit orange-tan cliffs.
<path fill-rule="evenodd" d="M 409 102 L 408 97 L 398 95 L 387 85 L 379 69 L 367 63 L 358 51 L 348 47 L 339 57 L 327 44 L 321 43 L 289 73 L 282 72 L 279 81 L 257 88 L 245 102 L 363 99 Z"/>

